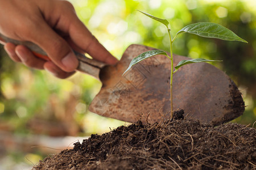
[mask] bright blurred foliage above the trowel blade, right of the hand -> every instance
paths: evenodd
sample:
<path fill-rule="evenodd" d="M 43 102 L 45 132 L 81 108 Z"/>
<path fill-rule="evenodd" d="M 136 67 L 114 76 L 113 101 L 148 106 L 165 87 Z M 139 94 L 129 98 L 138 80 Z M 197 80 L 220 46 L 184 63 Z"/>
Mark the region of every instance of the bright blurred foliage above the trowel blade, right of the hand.
<path fill-rule="evenodd" d="M 252 125 L 256 120 L 254 0 L 99 1 L 96 8 L 89 1 L 72 2 L 78 5 L 80 19 L 118 58 L 133 43 L 168 50 L 165 27 L 139 14 L 136 9 L 168 19 L 173 36 L 185 25 L 196 22 L 214 22 L 236 32 L 249 44 L 183 34 L 174 43 L 174 53 L 191 58 L 222 59 L 224 62 L 214 64 L 238 84 L 248 105 L 243 116 L 235 121 Z"/>

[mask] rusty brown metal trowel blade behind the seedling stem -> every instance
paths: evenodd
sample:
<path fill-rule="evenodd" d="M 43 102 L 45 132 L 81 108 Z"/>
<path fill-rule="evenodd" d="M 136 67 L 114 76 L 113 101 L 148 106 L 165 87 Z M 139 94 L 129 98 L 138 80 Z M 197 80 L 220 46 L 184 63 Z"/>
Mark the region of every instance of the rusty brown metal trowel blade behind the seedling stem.
<path fill-rule="evenodd" d="M 116 66 L 101 70 L 102 88 L 90 104 L 91 112 L 127 122 L 160 121 L 170 118 L 170 60 L 155 56 L 122 76 L 131 59 L 152 50 L 130 45 Z M 183 56 L 174 55 L 174 65 Z M 184 109 L 189 118 L 219 125 L 240 116 L 244 109 L 236 84 L 209 63 L 185 65 L 174 74 L 174 110 Z"/>

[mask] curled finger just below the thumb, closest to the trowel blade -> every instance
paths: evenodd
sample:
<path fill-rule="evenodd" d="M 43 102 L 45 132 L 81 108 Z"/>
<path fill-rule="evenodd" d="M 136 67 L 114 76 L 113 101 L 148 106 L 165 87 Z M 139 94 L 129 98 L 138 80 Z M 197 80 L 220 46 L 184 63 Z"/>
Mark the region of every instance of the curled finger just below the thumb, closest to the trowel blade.
<path fill-rule="evenodd" d="M 52 75 L 56 76 L 57 78 L 61 78 L 61 79 L 68 78 L 69 76 L 75 73 L 75 71 L 71 73 L 65 72 L 51 61 L 44 63 L 44 69 L 49 73 L 51 73 Z"/>

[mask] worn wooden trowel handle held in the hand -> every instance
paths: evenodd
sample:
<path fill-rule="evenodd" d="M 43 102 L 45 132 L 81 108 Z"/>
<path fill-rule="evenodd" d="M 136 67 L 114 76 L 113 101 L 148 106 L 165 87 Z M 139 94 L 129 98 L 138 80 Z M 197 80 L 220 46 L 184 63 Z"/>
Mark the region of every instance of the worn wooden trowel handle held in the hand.
<path fill-rule="evenodd" d="M 39 58 L 42 58 L 46 61 L 51 61 L 51 59 L 47 56 L 47 53 L 44 52 L 42 48 L 40 48 L 38 45 L 34 44 L 33 42 L 29 41 L 18 41 L 14 39 L 10 39 L 9 37 L 6 37 L 0 33 L 0 43 L 6 44 L 7 42 L 11 42 L 15 45 L 24 45 L 28 49 L 31 50 L 31 52 Z M 79 59 L 79 66 L 77 67 L 77 70 L 92 75 L 95 78 L 99 79 L 99 73 L 100 69 L 106 65 L 106 63 L 97 61 L 95 59 L 90 59 L 84 56 L 84 54 L 81 54 L 79 52 L 76 52 L 73 50 L 73 52 L 76 54 L 77 59 Z"/>

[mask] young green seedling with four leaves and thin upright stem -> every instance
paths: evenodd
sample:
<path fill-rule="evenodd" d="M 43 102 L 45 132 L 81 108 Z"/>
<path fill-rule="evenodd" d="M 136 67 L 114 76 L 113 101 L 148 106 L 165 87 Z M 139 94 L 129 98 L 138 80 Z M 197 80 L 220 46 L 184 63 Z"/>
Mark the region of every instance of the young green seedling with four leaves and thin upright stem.
<path fill-rule="evenodd" d="M 142 12 L 142 11 L 139 11 Z M 173 55 L 172 55 L 172 44 L 174 42 L 174 40 L 176 39 L 176 37 L 178 35 L 180 35 L 181 33 L 192 33 L 198 36 L 202 36 L 202 37 L 208 37 L 208 38 L 216 38 L 216 39 L 221 39 L 221 40 L 228 40 L 228 41 L 241 41 L 241 42 L 246 42 L 245 40 L 241 39 L 240 37 L 238 37 L 234 32 L 230 31 L 228 28 L 223 27 L 220 24 L 216 24 L 216 23 L 208 23 L 208 22 L 203 22 L 203 23 L 195 23 L 195 24 L 191 24 L 191 25 L 187 25 L 184 28 L 180 29 L 179 32 L 176 33 L 174 39 L 171 38 L 171 29 L 169 28 L 169 22 L 166 19 L 160 19 L 157 18 L 155 16 L 152 16 L 150 14 L 147 14 L 145 12 L 142 12 L 142 14 L 166 25 L 167 31 L 168 31 L 168 35 L 169 35 L 169 39 L 170 39 L 170 56 L 168 56 L 168 54 L 166 52 L 164 52 L 163 50 L 150 50 L 148 52 L 144 52 L 142 54 L 139 54 L 139 56 L 135 57 L 133 60 L 131 60 L 130 65 L 128 67 L 128 69 L 125 71 L 125 73 L 131 69 L 131 67 L 141 61 L 143 61 L 146 58 L 152 57 L 152 56 L 156 56 L 156 55 L 164 55 L 166 57 L 168 57 L 171 61 L 171 76 L 170 76 L 170 96 L 171 96 L 171 117 L 172 117 L 172 113 L 173 113 L 173 107 L 172 107 L 172 78 L 174 73 L 181 67 L 184 65 L 187 65 L 189 63 L 199 63 L 199 62 L 210 62 L 210 61 L 219 61 L 219 60 L 209 60 L 209 59 L 204 59 L 204 58 L 196 58 L 196 59 L 188 59 L 188 60 L 182 60 L 180 61 L 175 67 L 174 67 L 174 59 L 173 59 Z M 174 70 L 175 68 L 175 70 Z M 125 74 L 123 73 L 123 74 Z"/>

